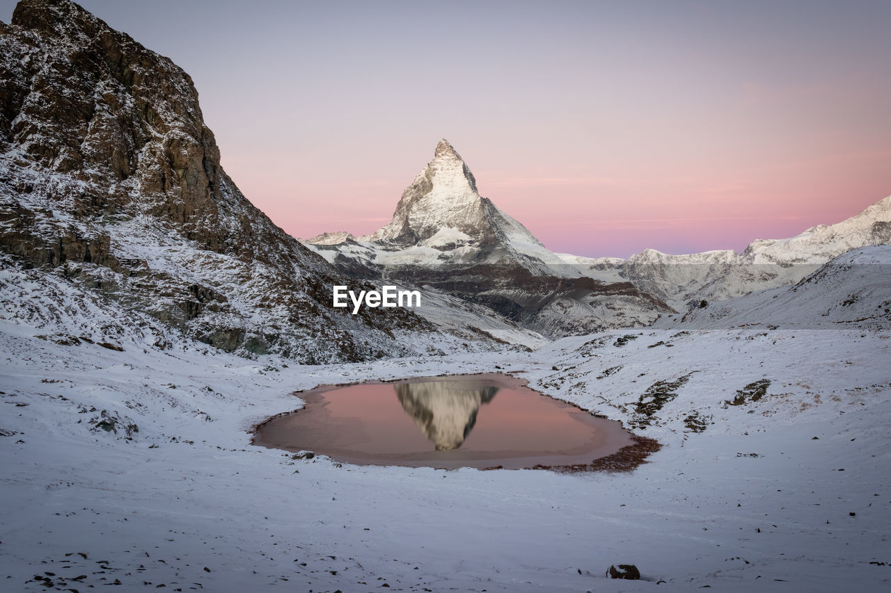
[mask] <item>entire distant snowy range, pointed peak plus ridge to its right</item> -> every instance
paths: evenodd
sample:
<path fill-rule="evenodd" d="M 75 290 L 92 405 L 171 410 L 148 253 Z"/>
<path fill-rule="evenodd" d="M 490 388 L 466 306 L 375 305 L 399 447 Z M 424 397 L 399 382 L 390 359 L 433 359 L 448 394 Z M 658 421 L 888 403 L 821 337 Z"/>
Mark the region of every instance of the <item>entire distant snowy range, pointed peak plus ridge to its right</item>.
<path fill-rule="evenodd" d="M 794 283 L 849 249 L 889 240 L 891 197 L 792 239 L 753 241 L 742 254 L 556 254 L 481 197 L 470 167 L 442 140 L 386 226 L 358 238 L 325 232 L 304 242 L 357 279 L 435 289 L 561 337 L 645 326 L 665 313 Z"/>

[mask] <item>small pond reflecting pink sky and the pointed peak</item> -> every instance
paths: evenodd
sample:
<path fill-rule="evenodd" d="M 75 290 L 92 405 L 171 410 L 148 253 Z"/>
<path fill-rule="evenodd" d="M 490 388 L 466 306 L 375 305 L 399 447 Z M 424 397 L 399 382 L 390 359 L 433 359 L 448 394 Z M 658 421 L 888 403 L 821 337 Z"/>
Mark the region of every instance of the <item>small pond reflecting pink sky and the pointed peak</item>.
<path fill-rule="evenodd" d="M 321 386 L 257 427 L 254 443 L 361 465 L 507 469 L 590 463 L 633 444 L 595 418 L 495 373 Z"/>

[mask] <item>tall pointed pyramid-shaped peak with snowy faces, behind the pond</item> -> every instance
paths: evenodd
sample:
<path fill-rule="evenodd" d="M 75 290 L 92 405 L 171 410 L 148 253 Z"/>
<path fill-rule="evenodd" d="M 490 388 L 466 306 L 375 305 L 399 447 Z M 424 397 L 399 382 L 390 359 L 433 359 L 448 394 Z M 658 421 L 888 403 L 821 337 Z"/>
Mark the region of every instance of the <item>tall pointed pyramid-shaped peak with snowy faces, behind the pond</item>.
<path fill-rule="evenodd" d="M 646 325 L 670 311 L 627 280 L 593 279 L 545 248 L 479 195 L 470 167 L 446 140 L 386 226 L 359 238 L 323 233 L 306 243 L 341 272 L 436 289 L 548 337 Z"/>

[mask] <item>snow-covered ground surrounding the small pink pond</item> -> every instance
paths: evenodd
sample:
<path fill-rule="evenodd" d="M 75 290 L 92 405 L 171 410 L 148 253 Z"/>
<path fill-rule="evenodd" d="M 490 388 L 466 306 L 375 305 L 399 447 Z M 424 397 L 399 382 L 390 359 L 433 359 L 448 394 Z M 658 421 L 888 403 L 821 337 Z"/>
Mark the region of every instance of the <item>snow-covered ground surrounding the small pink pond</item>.
<path fill-rule="evenodd" d="M 805 282 L 807 310 L 868 278 L 857 273 L 829 267 Z M 29 294 L 26 281 L 14 284 Z M 104 335 L 104 318 L 66 298 L 69 319 L 18 309 L 0 320 L 9 590 L 891 585 L 887 318 L 818 315 L 776 329 L 688 319 L 689 329 L 567 337 L 535 353 L 286 366 L 189 340 L 160 349 L 151 331 L 123 351 L 36 337 L 49 322 Z M 871 298 L 846 307 L 868 317 Z M 298 408 L 295 389 L 496 368 L 663 448 L 630 474 L 557 475 L 355 467 L 249 444 L 250 426 Z M 605 578 L 620 563 L 644 580 Z"/>

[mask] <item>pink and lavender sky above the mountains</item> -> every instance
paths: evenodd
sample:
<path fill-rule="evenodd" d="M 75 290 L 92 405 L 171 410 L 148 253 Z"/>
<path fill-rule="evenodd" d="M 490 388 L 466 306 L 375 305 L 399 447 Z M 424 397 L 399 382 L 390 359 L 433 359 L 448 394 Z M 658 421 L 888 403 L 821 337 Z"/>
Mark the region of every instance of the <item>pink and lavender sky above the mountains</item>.
<path fill-rule="evenodd" d="M 301 238 L 382 226 L 442 137 L 584 256 L 740 250 L 891 194 L 888 1 L 79 4 L 192 76 L 226 171 Z"/>

